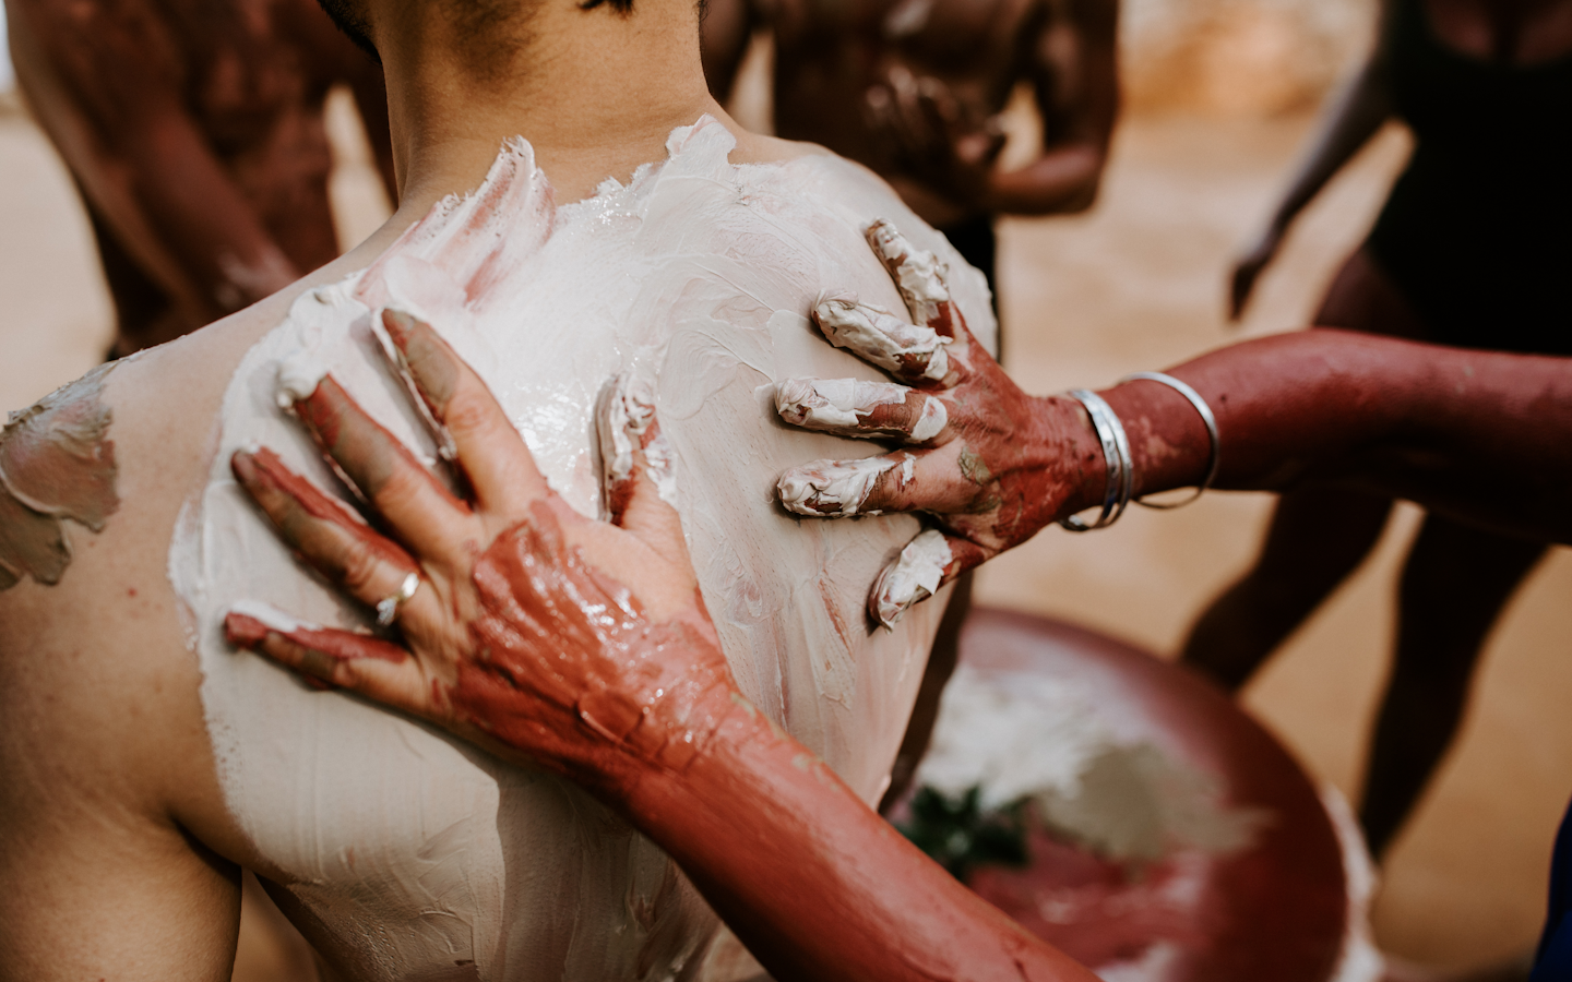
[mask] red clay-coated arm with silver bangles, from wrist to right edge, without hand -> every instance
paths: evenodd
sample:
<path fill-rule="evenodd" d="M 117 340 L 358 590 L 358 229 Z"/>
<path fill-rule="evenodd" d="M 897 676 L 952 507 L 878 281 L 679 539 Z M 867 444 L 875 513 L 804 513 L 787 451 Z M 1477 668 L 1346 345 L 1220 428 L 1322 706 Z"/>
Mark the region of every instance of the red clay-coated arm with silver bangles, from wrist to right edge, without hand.
<path fill-rule="evenodd" d="M 1217 487 L 1357 482 L 1475 522 L 1572 539 L 1572 360 L 1319 328 L 1170 369 L 1217 415 Z M 1130 435 L 1138 493 L 1195 484 L 1206 429 L 1151 382 L 1102 393 Z"/>

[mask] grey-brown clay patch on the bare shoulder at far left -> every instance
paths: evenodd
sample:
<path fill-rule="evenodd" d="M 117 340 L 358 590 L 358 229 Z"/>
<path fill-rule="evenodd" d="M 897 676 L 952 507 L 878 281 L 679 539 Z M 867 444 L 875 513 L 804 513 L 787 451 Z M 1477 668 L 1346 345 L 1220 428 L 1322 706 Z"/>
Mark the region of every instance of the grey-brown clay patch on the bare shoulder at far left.
<path fill-rule="evenodd" d="M 0 589 L 22 577 L 60 583 L 71 564 L 64 520 L 97 533 L 119 507 L 112 413 L 99 399 L 112 368 L 11 413 L 0 432 Z"/>

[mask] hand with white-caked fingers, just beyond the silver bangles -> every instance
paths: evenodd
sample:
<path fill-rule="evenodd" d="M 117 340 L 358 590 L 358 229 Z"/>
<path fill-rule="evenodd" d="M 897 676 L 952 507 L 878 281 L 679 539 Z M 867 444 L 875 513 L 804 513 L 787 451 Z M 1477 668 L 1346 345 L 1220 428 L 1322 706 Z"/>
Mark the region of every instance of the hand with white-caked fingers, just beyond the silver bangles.
<path fill-rule="evenodd" d="M 893 438 L 907 449 L 795 467 L 778 489 L 799 515 L 934 517 L 938 528 L 913 539 L 868 599 L 869 614 L 888 627 L 962 572 L 1093 504 L 1088 489 L 1102 487 L 1104 460 L 1080 404 L 1028 396 L 978 344 L 932 253 L 888 222 L 866 234 L 915 324 L 838 299 L 817 303 L 813 322 L 902 385 L 791 379 L 777 388 L 775 407 L 794 426 Z"/>

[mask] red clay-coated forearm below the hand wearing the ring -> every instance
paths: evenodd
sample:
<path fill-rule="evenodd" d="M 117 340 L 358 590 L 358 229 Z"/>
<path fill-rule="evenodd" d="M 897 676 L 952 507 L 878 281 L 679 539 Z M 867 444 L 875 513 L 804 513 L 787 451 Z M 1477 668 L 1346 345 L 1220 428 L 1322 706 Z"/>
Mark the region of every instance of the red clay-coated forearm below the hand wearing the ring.
<path fill-rule="evenodd" d="M 643 773 L 623 804 L 781 982 L 1094 979 L 740 701 L 707 753 Z"/>

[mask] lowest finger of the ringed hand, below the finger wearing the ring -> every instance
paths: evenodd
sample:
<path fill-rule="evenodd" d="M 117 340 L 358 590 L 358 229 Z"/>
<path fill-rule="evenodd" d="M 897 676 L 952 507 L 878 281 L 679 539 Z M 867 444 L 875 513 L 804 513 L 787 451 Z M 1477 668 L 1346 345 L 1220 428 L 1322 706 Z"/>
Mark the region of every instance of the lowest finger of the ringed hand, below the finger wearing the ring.
<path fill-rule="evenodd" d="M 236 603 L 223 617 L 230 644 L 253 650 L 335 688 L 362 693 L 415 715 L 429 715 L 429 685 L 401 646 L 355 632 L 299 621 L 264 603 Z"/>

